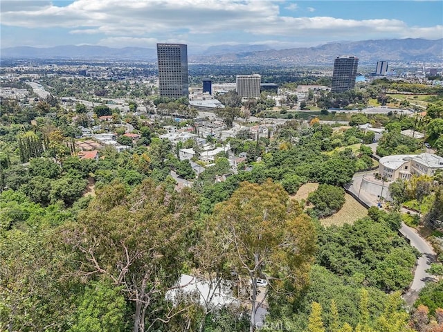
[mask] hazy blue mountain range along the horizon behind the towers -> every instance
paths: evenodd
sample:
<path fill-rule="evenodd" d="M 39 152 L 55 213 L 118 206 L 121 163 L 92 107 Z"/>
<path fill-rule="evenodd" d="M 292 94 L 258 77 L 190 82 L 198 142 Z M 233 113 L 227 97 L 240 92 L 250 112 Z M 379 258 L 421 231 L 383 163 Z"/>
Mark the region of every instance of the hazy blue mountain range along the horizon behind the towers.
<path fill-rule="evenodd" d="M 395 62 L 443 62 L 443 38 L 378 39 L 361 42 L 332 42 L 309 48 L 275 50 L 266 45 L 218 45 L 206 50 L 188 47 L 192 63 L 235 63 L 272 65 L 332 64 L 338 55 L 359 57 L 360 64 L 379 59 Z M 1 58 L 28 59 L 114 59 L 156 61 L 156 49 L 141 47 L 109 48 L 106 46 L 55 46 L 35 48 L 18 46 L 1 49 Z"/>

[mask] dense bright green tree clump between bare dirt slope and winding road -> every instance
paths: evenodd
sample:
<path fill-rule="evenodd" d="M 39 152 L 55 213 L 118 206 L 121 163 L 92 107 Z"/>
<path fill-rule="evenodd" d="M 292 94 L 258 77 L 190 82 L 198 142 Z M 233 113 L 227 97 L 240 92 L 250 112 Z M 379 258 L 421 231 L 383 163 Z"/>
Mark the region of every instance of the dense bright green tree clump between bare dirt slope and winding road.
<path fill-rule="evenodd" d="M 353 225 L 325 228 L 319 234 L 317 259 L 338 275 L 361 276 L 383 291 L 406 288 L 412 281 L 415 251 L 399 237 L 397 214 L 377 214 Z"/>

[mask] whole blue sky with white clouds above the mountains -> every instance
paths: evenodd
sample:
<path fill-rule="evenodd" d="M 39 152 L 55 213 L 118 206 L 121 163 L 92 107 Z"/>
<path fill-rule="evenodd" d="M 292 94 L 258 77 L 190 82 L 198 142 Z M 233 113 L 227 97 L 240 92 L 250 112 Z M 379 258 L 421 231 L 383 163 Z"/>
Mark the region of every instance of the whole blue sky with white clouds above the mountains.
<path fill-rule="evenodd" d="M 272 48 L 443 38 L 443 1 L 0 0 L 0 47 Z M 443 51 L 443 50 L 442 50 Z"/>

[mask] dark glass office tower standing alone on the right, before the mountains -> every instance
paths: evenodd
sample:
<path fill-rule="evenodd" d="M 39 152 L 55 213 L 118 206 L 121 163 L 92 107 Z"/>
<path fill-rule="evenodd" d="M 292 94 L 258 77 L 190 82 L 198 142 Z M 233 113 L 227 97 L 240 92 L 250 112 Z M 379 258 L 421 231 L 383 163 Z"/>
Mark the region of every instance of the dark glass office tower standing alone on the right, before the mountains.
<path fill-rule="evenodd" d="M 331 91 L 334 93 L 340 93 L 354 89 L 357 66 L 359 66 L 358 57 L 336 57 L 334 62 L 334 73 L 332 73 Z"/>

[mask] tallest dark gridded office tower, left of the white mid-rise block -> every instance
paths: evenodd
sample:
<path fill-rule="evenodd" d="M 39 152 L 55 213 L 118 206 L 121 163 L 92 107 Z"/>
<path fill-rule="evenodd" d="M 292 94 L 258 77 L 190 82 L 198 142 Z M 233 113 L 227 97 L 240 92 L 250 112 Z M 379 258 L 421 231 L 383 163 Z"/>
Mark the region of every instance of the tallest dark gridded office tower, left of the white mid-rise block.
<path fill-rule="evenodd" d="M 188 97 L 188 46 L 157 44 L 157 62 L 160 95 L 174 99 Z"/>

